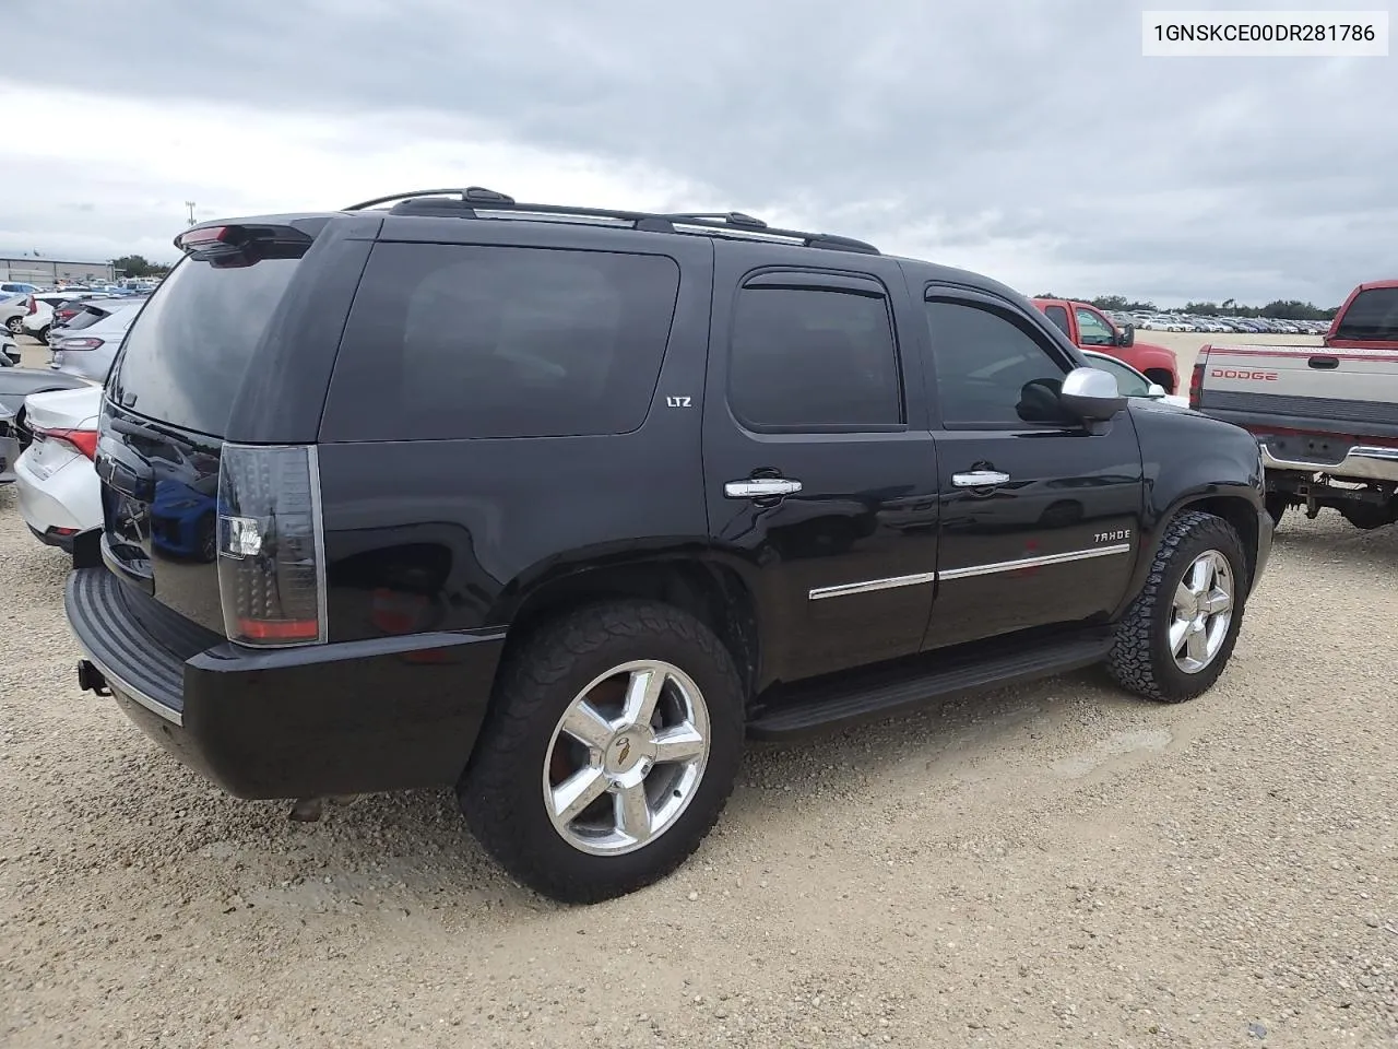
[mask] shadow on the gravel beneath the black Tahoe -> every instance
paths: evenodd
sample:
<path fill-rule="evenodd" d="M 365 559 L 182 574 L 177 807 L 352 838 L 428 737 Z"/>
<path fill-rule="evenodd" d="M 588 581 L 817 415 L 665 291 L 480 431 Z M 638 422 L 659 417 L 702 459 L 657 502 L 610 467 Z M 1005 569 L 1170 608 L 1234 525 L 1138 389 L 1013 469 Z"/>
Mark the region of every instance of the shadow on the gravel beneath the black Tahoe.
<path fill-rule="evenodd" d="M 1082 751 L 1083 726 L 1090 732 L 1120 720 L 1113 708 L 1153 709 L 1104 681 L 1097 671 L 1081 671 L 934 702 L 903 718 L 800 744 L 754 744 L 720 835 L 710 836 L 691 863 L 716 856 L 765 862 L 759 855 L 772 848 L 766 834 L 773 829 L 819 836 L 819 797 L 871 796 L 875 807 L 896 804 L 889 782 L 966 780 L 977 766 L 1004 762 L 1007 754 L 1026 780 L 1061 782 L 1054 762 L 1083 759 L 1072 758 Z M 133 747 L 144 745 L 150 744 L 133 740 Z M 109 832 L 127 838 L 133 855 L 162 853 L 161 866 L 182 867 L 180 881 L 207 885 L 219 899 L 236 892 L 239 905 L 263 915 L 566 909 L 516 885 L 493 864 L 467 831 L 450 790 L 369 794 L 351 804 L 326 804 L 317 822 L 295 822 L 288 818 L 289 803 L 225 796 L 165 755 L 123 761 L 113 772 L 115 796 L 145 796 L 161 804 L 152 796 L 159 790 L 175 818 L 161 821 L 162 834 L 154 839 L 148 825 L 145 832 L 130 828 L 138 843 L 120 829 Z M 130 807 L 123 808 L 103 811 L 94 803 L 82 815 L 98 822 L 130 820 Z"/>

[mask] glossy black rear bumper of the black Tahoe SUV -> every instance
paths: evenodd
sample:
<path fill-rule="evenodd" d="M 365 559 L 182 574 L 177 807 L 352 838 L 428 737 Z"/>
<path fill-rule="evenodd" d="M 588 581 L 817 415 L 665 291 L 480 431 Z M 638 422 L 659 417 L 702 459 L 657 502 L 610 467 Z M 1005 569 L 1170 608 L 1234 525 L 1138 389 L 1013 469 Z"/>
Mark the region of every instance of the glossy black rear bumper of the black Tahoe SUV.
<path fill-rule="evenodd" d="M 250 650 L 129 592 L 106 568 L 70 572 L 64 610 L 131 720 L 246 799 L 454 783 L 505 645 L 503 632 L 419 634 Z M 102 684 L 91 670 L 82 677 Z"/>

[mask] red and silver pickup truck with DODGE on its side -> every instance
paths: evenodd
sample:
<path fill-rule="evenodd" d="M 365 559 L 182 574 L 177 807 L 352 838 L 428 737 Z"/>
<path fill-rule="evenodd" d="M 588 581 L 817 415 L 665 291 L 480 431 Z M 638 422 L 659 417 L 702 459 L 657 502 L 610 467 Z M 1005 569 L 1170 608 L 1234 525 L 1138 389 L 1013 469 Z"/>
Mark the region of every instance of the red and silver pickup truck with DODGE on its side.
<path fill-rule="evenodd" d="M 1398 522 L 1398 281 L 1350 292 L 1324 345 L 1205 345 L 1190 407 L 1257 438 L 1272 520 Z"/>

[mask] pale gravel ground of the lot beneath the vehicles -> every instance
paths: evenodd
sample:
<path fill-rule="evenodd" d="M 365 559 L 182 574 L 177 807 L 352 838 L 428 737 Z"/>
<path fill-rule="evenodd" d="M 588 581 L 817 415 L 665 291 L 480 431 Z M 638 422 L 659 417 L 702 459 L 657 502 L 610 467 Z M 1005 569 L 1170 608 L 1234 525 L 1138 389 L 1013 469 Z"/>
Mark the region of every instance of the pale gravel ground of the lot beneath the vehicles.
<path fill-rule="evenodd" d="M 84 698 L 0 491 L 0 1045 L 1398 1045 L 1395 569 L 1289 516 L 1202 699 L 755 750 L 689 866 L 569 909 L 445 792 L 291 824 Z"/>

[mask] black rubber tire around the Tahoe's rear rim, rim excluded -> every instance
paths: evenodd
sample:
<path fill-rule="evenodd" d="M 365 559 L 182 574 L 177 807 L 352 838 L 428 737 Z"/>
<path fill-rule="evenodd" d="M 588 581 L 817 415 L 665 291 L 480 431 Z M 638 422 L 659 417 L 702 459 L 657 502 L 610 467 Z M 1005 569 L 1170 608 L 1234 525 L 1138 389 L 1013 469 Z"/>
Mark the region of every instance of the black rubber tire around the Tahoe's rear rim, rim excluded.
<path fill-rule="evenodd" d="M 563 713 L 594 678 L 630 660 L 664 660 L 692 678 L 709 715 L 709 757 L 688 807 L 633 852 L 570 845 L 544 804 L 544 769 Z M 633 892 L 674 871 L 705 839 L 742 759 L 744 692 L 734 663 L 692 615 L 654 601 L 610 601 L 541 627 L 500 669 L 491 712 L 457 797 L 467 825 L 514 878 L 565 904 Z"/>

